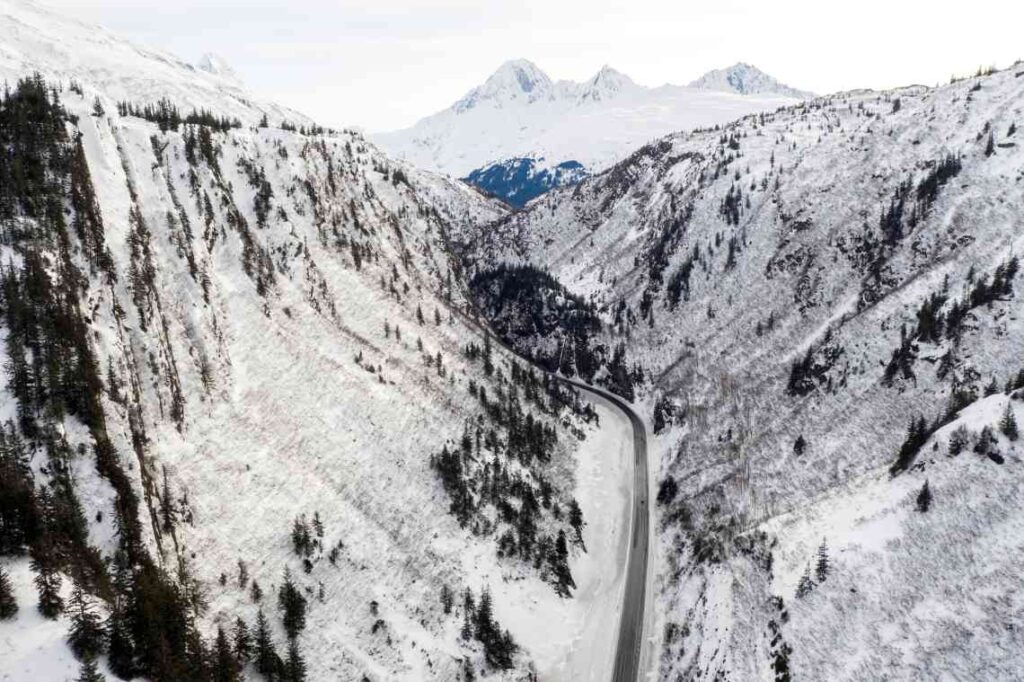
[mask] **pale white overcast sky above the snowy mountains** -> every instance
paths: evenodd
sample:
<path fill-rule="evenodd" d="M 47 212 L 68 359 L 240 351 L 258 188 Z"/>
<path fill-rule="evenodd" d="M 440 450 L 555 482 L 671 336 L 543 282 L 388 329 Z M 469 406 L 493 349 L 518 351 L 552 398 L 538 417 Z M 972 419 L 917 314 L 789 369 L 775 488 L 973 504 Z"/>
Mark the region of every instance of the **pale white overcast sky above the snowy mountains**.
<path fill-rule="evenodd" d="M 214 52 L 255 93 L 371 131 L 449 106 L 517 57 L 556 80 L 607 63 L 643 85 L 749 61 L 820 93 L 1024 57 L 1020 0 L 42 1 L 188 60 Z"/>

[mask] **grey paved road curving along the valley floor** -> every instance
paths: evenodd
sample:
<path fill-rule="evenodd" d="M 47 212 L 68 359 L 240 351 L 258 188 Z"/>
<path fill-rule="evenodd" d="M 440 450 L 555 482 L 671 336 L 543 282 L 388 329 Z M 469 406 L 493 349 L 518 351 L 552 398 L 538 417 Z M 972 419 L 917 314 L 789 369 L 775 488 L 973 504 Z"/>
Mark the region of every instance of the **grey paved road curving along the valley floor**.
<path fill-rule="evenodd" d="M 650 510 L 647 472 L 647 427 L 624 398 L 575 379 L 551 375 L 561 382 L 599 395 L 630 419 L 633 426 L 633 520 L 627 559 L 626 588 L 618 623 L 618 643 L 612 665 L 612 682 L 638 682 L 644 643 L 644 605 L 647 597 L 647 557 L 650 539 Z"/>

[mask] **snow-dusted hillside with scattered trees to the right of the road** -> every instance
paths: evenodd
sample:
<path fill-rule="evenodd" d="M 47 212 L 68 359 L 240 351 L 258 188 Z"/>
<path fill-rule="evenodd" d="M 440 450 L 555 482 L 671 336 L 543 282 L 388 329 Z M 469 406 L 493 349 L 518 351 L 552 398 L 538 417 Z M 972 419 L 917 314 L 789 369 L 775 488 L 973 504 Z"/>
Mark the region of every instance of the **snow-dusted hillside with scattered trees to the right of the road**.
<path fill-rule="evenodd" d="M 840 93 L 458 236 L 643 365 L 660 679 L 1021 677 L 1022 126 L 1024 63 Z"/>

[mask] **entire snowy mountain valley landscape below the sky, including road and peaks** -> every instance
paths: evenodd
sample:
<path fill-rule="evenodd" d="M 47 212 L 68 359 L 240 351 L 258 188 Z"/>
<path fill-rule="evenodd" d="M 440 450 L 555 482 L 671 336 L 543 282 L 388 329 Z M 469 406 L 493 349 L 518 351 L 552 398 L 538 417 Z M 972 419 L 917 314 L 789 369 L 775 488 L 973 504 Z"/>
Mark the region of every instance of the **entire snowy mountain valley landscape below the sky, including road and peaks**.
<path fill-rule="evenodd" d="M 0 680 L 1024 677 L 1024 62 L 0 77 Z"/>

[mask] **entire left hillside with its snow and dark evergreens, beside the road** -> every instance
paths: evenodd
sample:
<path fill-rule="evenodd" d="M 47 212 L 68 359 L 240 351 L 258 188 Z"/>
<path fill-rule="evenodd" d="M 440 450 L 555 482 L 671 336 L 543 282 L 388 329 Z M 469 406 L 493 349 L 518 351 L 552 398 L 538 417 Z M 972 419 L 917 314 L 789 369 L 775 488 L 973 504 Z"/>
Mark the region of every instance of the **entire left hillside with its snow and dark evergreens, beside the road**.
<path fill-rule="evenodd" d="M 616 594 L 623 481 L 578 457 L 616 427 L 466 313 L 449 235 L 506 209 L 0 11 L 0 678 L 76 677 L 70 632 L 124 679 L 566 670 Z"/>

